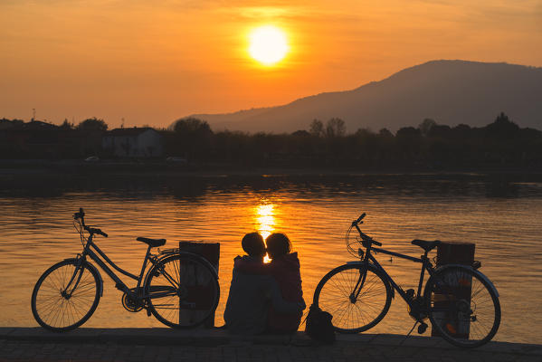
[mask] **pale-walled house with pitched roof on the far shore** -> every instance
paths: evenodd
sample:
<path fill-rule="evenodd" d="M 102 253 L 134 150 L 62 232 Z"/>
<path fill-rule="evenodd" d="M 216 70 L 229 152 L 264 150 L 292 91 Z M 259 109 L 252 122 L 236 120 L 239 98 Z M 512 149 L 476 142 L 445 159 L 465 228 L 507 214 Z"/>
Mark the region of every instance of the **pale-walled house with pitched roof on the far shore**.
<path fill-rule="evenodd" d="M 162 136 L 149 127 L 109 130 L 101 147 L 116 157 L 160 157 L 164 152 Z"/>

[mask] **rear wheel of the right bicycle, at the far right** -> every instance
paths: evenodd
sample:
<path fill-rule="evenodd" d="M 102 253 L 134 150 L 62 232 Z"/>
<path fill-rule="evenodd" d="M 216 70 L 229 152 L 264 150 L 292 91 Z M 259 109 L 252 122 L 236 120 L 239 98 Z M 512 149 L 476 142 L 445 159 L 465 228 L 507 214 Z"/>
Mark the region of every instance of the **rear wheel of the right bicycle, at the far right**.
<path fill-rule="evenodd" d="M 499 329 L 499 297 L 477 271 L 444 267 L 427 281 L 424 298 L 433 330 L 454 346 L 479 347 Z"/>

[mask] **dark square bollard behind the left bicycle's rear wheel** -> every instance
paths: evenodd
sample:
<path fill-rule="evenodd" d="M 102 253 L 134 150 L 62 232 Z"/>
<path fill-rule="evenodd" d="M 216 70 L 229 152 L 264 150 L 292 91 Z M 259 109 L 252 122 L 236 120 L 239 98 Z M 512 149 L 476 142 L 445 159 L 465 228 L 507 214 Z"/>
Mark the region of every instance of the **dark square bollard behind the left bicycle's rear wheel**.
<path fill-rule="evenodd" d="M 204 243 L 204 242 L 195 242 L 195 241 L 182 241 L 179 242 L 179 252 L 192 252 L 197 255 L 204 257 L 211 265 L 214 266 L 216 273 L 218 273 L 218 264 L 220 260 L 220 243 Z M 195 295 L 196 306 L 199 304 L 204 308 L 207 308 L 208 305 L 205 302 L 208 300 L 208 296 L 205 294 L 204 286 L 208 281 L 201 280 L 197 278 L 197 271 L 194 271 L 195 285 L 192 287 L 195 289 L 193 295 Z M 201 274 L 201 273 L 200 273 Z M 202 313 L 202 311 L 197 310 L 180 310 L 180 313 L 183 315 L 183 318 L 190 319 L 191 316 L 194 316 L 197 313 Z M 209 319 L 204 322 L 203 325 L 206 329 L 211 329 L 214 327 L 214 313 Z"/>

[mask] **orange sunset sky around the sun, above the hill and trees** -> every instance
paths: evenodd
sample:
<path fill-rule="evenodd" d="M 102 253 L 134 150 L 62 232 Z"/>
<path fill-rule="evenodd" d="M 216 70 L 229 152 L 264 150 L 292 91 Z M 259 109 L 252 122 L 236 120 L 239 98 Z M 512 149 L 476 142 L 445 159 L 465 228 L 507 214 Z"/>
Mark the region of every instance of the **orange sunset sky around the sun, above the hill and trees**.
<path fill-rule="evenodd" d="M 435 59 L 542 66 L 542 0 L 2 0 L 0 24 L 0 118 L 34 108 L 109 128 L 279 105 Z M 247 53 L 262 24 L 289 38 L 275 67 Z"/>

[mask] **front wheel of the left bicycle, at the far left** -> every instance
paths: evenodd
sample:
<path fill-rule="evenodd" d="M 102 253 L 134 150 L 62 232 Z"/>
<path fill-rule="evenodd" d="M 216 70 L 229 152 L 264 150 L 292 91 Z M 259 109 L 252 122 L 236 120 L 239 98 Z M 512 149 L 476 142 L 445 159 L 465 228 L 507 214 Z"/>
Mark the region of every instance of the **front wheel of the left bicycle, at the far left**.
<path fill-rule="evenodd" d="M 58 262 L 43 272 L 32 292 L 33 318 L 44 329 L 76 329 L 90 318 L 100 301 L 100 276 L 76 259 Z"/>

